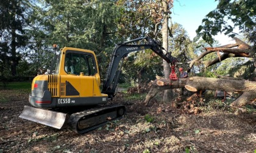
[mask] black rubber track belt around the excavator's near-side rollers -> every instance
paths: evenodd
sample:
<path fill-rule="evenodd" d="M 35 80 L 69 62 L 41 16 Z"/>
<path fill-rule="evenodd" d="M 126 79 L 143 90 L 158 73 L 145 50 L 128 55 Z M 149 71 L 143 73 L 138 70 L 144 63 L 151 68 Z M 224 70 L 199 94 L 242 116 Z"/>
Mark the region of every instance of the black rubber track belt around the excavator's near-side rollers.
<path fill-rule="evenodd" d="M 126 108 L 123 105 L 113 105 L 113 106 L 107 106 L 107 107 L 106 106 L 96 107 L 96 108 L 93 108 L 93 109 L 88 109 L 88 110 L 84 110 L 82 112 L 77 112 L 77 113 L 71 114 L 71 116 L 69 117 L 68 125 L 71 128 L 71 130 L 76 132 L 77 134 L 85 134 L 86 132 L 93 131 L 94 129 L 98 129 L 101 126 L 104 126 L 105 124 L 108 123 L 108 121 L 105 121 L 104 123 L 96 124 L 96 125 L 91 126 L 91 127 L 87 127 L 86 129 L 84 129 L 82 131 L 77 131 L 77 122 L 80 120 L 80 118 L 83 118 L 87 115 L 91 115 L 91 114 L 100 112 L 104 109 L 113 109 L 115 107 L 124 107 L 124 114 L 126 113 Z M 112 120 L 117 120 L 119 118 L 123 118 L 123 115 L 120 116 L 120 117 L 117 117 L 117 118 L 113 118 Z M 109 120 L 109 121 L 112 121 L 112 120 Z"/>

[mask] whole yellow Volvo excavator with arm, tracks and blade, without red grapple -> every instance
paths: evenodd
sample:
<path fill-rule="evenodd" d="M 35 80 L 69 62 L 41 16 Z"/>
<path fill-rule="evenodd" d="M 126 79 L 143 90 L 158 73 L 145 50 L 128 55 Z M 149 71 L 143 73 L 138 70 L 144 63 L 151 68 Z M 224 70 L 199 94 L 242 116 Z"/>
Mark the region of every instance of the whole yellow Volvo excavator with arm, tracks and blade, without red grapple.
<path fill-rule="evenodd" d="M 134 44 L 143 41 L 144 44 Z M 177 62 L 171 53 L 164 53 L 158 41 L 149 37 L 132 39 L 116 45 L 107 75 L 100 88 L 96 55 L 91 50 L 64 47 L 56 54 L 48 75 L 32 81 L 29 103 L 20 118 L 79 134 L 97 129 L 108 121 L 122 118 L 123 105 L 108 105 L 113 100 L 121 74 L 123 59 L 130 53 L 151 49 L 170 64 Z"/>

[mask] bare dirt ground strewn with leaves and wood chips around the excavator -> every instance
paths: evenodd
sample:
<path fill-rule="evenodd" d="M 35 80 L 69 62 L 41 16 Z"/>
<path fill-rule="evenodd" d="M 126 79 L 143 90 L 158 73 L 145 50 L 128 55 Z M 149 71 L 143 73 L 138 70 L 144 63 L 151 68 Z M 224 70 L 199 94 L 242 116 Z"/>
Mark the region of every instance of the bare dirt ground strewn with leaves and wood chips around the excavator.
<path fill-rule="evenodd" d="M 235 115 L 224 107 L 201 108 L 188 114 L 170 104 L 152 100 L 126 101 L 118 95 L 111 103 L 124 104 L 122 120 L 79 135 L 19 118 L 28 93 L 0 103 L 0 152 L 255 152 L 256 114 Z"/>

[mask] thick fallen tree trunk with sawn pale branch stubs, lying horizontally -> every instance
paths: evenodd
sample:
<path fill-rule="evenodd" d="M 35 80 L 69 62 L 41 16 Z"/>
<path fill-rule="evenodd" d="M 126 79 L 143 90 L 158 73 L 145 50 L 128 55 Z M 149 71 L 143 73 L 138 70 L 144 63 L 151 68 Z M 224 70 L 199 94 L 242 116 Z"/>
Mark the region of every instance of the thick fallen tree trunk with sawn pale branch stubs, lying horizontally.
<path fill-rule="evenodd" d="M 191 92 L 197 92 L 199 90 L 225 90 L 227 92 L 238 92 L 241 94 L 240 97 L 230 104 L 231 106 L 235 107 L 241 107 L 247 103 L 250 103 L 251 101 L 256 100 L 256 82 L 246 80 L 191 77 L 187 79 L 179 79 L 178 81 L 170 81 L 167 79 L 153 81 L 151 89 L 144 100 L 144 104 L 148 104 L 148 102 L 162 90 L 180 87 L 185 87 Z"/>

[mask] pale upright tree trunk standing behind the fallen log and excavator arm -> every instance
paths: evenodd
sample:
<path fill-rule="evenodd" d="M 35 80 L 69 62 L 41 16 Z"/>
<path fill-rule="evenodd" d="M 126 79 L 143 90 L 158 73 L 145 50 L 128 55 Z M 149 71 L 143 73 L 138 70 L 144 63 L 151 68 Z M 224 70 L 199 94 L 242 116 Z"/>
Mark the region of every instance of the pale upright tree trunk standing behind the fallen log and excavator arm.
<path fill-rule="evenodd" d="M 167 1 L 162 1 L 163 4 L 163 24 L 162 24 L 162 36 L 163 36 L 163 48 L 168 50 L 168 4 Z M 164 51 L 165 52 L 165 51 Z M 165 78 L 169 78 L 169 74 L 171 72 L 171 68 L 169 64 L 163 60 L 163 72 L 165 73 Z M 165 90 L 163 94 L 163 101 L 168 103 L 171 101 L 173 97 L 172 90 Z"/>

